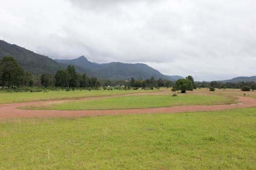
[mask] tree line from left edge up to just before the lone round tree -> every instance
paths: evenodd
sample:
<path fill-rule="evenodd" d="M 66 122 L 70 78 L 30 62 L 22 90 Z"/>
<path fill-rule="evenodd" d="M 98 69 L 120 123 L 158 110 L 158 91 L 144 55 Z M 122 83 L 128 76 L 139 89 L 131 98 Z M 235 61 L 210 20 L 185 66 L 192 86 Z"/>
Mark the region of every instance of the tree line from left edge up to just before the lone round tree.
<path fill-rule="evenodd" d="M 124 89 L 154 89 L 159 87 L 171 87 L 174 83 L 170 80 L 155 79 L 151 77 L 146 80 L 134 79 L 127 81 L 99 81 L 95 77 L 87 77 L 86 74 L 79 74 L 74 66 L 69 65 L 67 69 L 59 69 L 55 74 L 44 73 L 32 75 L 17 63 L 15 58 L 6 56 L 0 60 L 0 86 L 20 87 L 20 86 L 43 86 L 43 87 L 65 87 L 67 89 L 75 87 L 90 87 L 97 89 L 100 86 L 123 86 Z"/>

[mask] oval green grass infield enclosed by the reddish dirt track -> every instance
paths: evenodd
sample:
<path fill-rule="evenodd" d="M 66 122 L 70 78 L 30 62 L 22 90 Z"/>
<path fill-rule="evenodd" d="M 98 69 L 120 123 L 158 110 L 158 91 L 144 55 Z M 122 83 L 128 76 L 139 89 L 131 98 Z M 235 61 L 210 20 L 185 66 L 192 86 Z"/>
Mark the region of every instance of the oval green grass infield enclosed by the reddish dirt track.
<path fill-rule="evenodd" d="M 217 105 L 235 103 L 235 97 L 217 95 L 185 94 L 173 97 L 172 95 L 133 95 L 105 99 L 96 99 L 79 102 L 65 102 L 52 105 L 28 105 L 22 109 L 47 110 L 111 110 L 133 108 L 156 108 L 176 105 Z"/>

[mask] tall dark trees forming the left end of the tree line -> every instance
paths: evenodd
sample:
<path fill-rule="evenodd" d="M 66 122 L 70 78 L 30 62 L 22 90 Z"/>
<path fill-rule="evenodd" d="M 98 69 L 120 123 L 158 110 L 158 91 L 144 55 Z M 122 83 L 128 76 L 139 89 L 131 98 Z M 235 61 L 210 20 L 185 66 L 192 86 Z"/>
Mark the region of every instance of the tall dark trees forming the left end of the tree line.
<path fill-rule="evenodd" d="M 32 75 L 17 63 L 15 58 L 5 56 L 0 60 L 0 86 L 20 87 L 20 86 L 43 86 L 43 87 L 92 87 L 100 86 L 97 78 L 89 78 L 86 74 L 77 73 L 74 66 L 67 69 L 59 69 L 55 74 Z"/>

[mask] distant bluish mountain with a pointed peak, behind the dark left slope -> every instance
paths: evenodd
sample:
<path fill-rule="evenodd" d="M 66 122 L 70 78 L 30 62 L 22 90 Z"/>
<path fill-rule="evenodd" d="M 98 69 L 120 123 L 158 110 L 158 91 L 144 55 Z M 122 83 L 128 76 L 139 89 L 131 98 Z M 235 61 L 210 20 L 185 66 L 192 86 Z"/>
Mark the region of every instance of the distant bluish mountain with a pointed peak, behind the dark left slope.
<path fill-rule="evenodd" d="M 141 63 L 127 64 L 120 62 L 112 62 L 98 64 L 88 61 L 84 56 L 80 56 L 79 58 L 71 60 L 55 59 L 55 61 L 62 64 L 72 64 L 87 69 L 91 69 L 92 71 L 101 75 L 102 78 L 111 80 L 125 80 L 130 79 L 131 77 L 135 79 L 149 79 L 151 77 L 154 77 L 155 79 L 161 78 L 175 81 L 177 79 L 183 78 L 181 76 L 163 75 L 158 70 Z"/>

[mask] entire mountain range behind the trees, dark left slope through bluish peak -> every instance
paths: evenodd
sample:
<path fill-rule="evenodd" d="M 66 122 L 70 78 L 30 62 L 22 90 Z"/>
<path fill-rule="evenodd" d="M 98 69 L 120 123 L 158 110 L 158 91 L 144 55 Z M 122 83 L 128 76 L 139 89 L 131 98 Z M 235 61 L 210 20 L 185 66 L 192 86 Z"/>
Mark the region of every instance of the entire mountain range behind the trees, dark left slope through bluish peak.
<path fill-rule="evenodd" d="M 58 69 L 67 68 L 68 65 L 74 65 L 79 73 L 86 73 L 89 77 L 97 77 L 103 80 L 126 80 L 131 79 L 131 77 L 144 80 L 154 77 L 155 79 L 162 78 L 175 81 L 183 78 L 181 76 L 161 74 L 158 70 L 141 63 L 127 64 L 112 62 L 98 64 L 88 61 L 84 56 L 71 60 L 53 60 L 47 56 L 0 40 L 0 58 L 4 56 L 14 57 L 24 70 L 34 75 L 43 73 L 54 74 Z"/>

